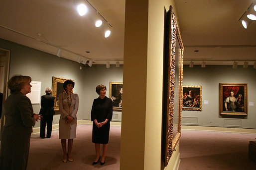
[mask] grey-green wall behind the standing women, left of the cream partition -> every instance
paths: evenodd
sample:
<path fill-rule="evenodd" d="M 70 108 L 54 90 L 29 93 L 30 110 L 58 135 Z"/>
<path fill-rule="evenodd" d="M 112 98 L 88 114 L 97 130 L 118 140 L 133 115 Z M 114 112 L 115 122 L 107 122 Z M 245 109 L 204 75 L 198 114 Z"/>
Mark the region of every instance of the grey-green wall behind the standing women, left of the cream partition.
<path fill-rule="evenodd" d="M 33 81 L 40 81 L 41 95 L 45 94 L 46 87 L 52 87 L 52 76 L 74 80 L 73 92 L 79 95 L 78 119 L 91 119 L 92 103 L 98 98 L 95 92 L 98 84 L 104 84 L 109 89 L 110 81 L 123 81 L 123 65 L 120 67 L 111 65 L 110 68 L 106 68 L 106 65 L 89 67 L 3 39 L 0 39 L 0 48 L 10 50 L 9 78 L 21 74 L 30 76 Z M 107 96 L 108 94 L 107 91 Z M 39 104 L 33 104 L 34 113 L 39 113 L 40 108 Z M 60 114 L 56 113 L 53 124 L 59 123 Z M 121 115 L 121 112 L 115 113 Z M 40 127 L 39 121 L 36 122 L 35 127 Z"/>

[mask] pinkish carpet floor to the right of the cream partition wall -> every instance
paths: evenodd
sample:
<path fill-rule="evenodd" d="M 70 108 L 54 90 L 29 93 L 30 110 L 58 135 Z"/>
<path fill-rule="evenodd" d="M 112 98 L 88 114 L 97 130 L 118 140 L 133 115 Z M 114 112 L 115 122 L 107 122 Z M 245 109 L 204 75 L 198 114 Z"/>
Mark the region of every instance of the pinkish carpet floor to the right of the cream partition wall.
<path fill-rule="evenodd" d="M 179 170 L 256 170 L 248 158 L 256 134 L 182 130 Z"/>

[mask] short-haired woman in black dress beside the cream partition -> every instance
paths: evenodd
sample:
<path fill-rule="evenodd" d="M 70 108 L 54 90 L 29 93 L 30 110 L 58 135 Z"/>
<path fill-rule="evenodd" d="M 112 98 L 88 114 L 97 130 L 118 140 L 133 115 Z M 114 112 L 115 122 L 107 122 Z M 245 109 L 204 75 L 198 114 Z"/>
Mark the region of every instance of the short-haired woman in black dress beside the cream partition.
<path fill-rule="evenodd" d="M 93 143 L 95 143 L 96 159 L 93 165 L 97 164 L 100 157 L 101 143 L 103 144 L 101 165 L 105 164 L 105 156 L 109 143 L 110 121 L 112 119 L 112 100 L 106 97 L 107 87 L 98 85 L 96 92 L 100 95 L 93 101 L 91 120 L 93 121 Z"/>

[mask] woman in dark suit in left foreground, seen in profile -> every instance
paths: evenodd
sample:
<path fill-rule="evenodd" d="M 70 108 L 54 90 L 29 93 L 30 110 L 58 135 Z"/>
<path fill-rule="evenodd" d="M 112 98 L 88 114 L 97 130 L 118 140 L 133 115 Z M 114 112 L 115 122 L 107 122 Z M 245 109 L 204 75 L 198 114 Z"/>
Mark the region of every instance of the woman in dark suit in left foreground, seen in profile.
<path fill-rule="evenodd" d="M 40 114 L 33 113 L 31 78 L 15 75 L 8 81 L 10 96 L 4 102 L 5 124 L 1 133 L 0 170 L 26 170 L 30 136 Z"/>

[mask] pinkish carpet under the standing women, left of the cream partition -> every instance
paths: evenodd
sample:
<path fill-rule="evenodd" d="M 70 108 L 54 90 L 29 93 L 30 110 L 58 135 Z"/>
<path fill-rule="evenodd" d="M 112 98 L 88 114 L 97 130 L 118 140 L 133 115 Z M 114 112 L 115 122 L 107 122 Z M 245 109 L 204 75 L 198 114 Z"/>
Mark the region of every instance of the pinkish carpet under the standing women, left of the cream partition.
<path fill-rule="evenodd" d="M 58 130 L 52 131 L 51 138 L 41 139 L 39 133 L 32 134 L 27 170 L 119 170 L 120 142 L 121 126 L 111 126 L 106 163 L 92 165 L 95 159 L 92 125 L 78 125 L 71 153 L 74 162 L 63 163 Z"/>

